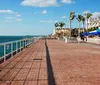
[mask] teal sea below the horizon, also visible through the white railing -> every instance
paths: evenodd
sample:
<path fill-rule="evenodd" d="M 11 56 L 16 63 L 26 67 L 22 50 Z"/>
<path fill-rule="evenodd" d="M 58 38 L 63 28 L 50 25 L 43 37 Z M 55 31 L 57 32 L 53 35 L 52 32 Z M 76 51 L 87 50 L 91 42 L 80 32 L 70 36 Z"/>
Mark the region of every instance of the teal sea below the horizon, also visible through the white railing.
<path fill-rule="evenodd" d="M 16 41 L 24 38 L 30 38 L 35 36 L 0 36 L 0 44 L 10 41 Z M 19 43 L 20 44 L 20 43 Z M 18 47 L 20 48 L 20 45 Z M 16 43 L 13 44 L 13 50 L 16 50 Z M 11 44 L 6 45 L 6 54 L 11 52 Z M 4 56 L 4 46 L 0 45 L 0 57 Z"/>

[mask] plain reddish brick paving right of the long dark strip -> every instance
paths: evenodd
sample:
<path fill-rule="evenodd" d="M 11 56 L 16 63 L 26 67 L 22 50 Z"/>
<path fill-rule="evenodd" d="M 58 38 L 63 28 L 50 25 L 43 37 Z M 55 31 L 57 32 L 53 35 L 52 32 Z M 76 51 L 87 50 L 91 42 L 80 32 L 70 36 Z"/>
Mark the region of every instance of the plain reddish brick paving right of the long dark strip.
<path fill-rule="evenodd" d="M 56 85 L 99 85 L 100 47 L 48 41 Z"/>

